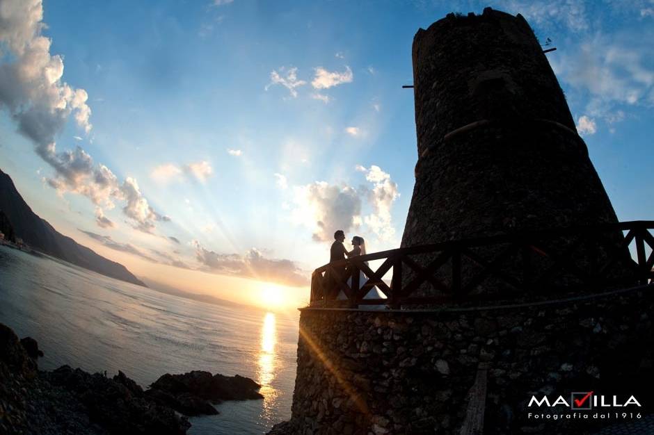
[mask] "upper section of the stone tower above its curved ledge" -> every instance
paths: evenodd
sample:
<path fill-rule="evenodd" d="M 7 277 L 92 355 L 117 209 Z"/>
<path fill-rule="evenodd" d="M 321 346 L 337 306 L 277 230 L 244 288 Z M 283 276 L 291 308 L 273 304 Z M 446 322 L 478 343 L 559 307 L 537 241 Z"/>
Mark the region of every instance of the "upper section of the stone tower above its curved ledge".
<path fill-rule="evenodd" d="M 418 155 L 480 120 L 575 123 L 543 47 L 522 15 L 484 9 L 420 28 L 413 39 Z"/>

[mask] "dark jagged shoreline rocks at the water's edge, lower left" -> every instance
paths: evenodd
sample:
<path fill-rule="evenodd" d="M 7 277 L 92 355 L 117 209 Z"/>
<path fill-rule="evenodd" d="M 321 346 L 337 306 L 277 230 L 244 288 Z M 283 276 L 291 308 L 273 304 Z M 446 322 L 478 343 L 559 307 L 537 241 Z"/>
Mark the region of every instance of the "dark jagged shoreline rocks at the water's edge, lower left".
<path fill-rule="evenodd" d="M 38 370 L 39 356 L 36 340 L 0 323 L 1 434 L 186 434 L 188 416 L 215 415 L 213 404 L 263 398 L 239 375 L 166 374 L 143 390 L 120 371 Z"/>

